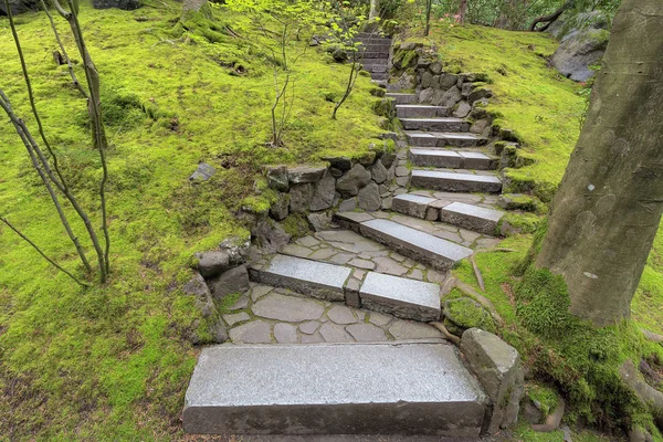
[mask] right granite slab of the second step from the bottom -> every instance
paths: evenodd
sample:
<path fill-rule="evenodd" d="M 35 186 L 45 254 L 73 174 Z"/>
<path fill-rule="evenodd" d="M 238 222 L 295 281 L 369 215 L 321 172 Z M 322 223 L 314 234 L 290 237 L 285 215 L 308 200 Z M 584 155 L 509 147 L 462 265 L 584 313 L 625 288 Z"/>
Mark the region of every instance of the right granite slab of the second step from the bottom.
<path fill-rule="evenodd" d="M 359 291 L 361 306 L 423 323 L 440 320 L 440 286 L 370 272 Z"/>

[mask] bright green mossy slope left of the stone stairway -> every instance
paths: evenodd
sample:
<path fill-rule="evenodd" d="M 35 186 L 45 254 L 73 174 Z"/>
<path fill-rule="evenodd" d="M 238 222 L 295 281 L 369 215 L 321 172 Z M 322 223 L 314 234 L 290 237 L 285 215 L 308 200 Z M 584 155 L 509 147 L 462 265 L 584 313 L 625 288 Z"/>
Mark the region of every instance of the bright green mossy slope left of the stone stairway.
<path fill-rule="evenodd" d="M 308 49 L 295 74 L 285 147 L 265 147 L 271 67 L 253 45 L 223 32 L 243 19 L 219 10 L 214 20 L 182 25 L 180 11 L 181 3 L 169 0 L 131 12 L 81 7 L 112 144 L 113 274 L 106 286 L 83 291 L 8 229 L 0 231 L 0 439 L 179 436 L 197 354 L 185 335 L 199 313 L 181 293 L 193 252 L 248 234 L 233 213 L 246 198 L 264 206 L 251 199 L 261 165 L 314 161 L 329 152 L 365 156 L 371 143 L 380 143 L 369 80 L 357 81 L 332 120 L 334 103 L 325 96 L 340 95 L 349 67 Z M 17 22 L 46 133 L 72 188 L 96 213 L 101 171 L 85 102 L 65 67 L 53 63 L 56 43 L 45 15 L 29 13 Z M 57 23 L 69 35 L 66 23 Z M 72 59 L 80 59 L 72 39 L 64 40 Z M 0 87 L 34 128 L 6 18 L 0 53 Z M 76 73 L 83 77 L 77 63 Z M 48 255 L 81 272 L 9 124 L 0 125 L 0 214 Z M 192 186 L 188 177 L 201 160 L 218 172 Z M 80 225 L 75 231 L 82 233 Z"/>

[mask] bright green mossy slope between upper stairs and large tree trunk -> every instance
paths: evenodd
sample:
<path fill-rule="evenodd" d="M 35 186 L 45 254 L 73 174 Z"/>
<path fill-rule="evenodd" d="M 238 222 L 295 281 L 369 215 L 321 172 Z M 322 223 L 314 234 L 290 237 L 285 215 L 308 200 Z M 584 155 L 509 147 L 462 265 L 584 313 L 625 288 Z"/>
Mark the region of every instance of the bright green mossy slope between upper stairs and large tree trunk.
<path fill-rule="evenodd" d="M 434 44 L 446 71 L 488 75 L 487 87 L 495 93 L 488 112 L 497 125 L 515 131 L 526 156 L 536 161 L 508 169 L 512 188 L 505 192 L 532 189 L 549 202 L 578 139 L 585 110 L 581 86 L 547 63 L 558 43 L 546 33 L 438 23 L 428 39 L 411 40 Z"/>

